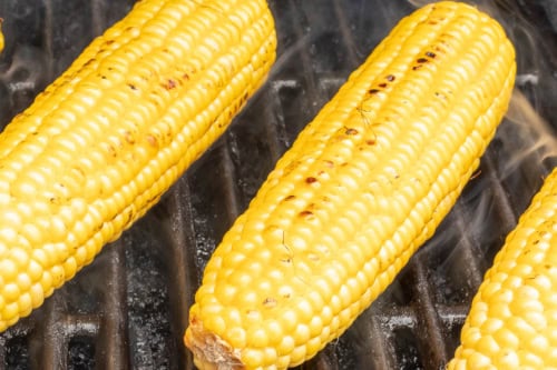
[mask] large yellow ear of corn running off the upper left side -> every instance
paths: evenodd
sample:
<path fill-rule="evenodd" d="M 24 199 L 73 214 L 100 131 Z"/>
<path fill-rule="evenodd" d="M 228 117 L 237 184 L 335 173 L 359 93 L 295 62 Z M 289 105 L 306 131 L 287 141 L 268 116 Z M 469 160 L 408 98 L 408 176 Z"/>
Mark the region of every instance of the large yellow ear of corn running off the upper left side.
<path fill-rule="evenodd" d="M 0 134 L 0 330 L 141 217 L 275 58 L 264 0 L 143 0 Z"/>

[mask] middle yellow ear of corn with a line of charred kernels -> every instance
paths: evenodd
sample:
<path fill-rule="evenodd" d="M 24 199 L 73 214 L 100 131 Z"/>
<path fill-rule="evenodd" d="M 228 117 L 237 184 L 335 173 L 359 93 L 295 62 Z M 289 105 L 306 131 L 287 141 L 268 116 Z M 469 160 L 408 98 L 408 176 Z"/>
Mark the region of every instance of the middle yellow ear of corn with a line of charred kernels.
<path fill-rule="evenodd" d="M 303 130 L 206 266 L 185 343 L 202 369 L 284 369 L 338 338 L 431 237 L 511 94 L 515 52 L 475 8 L 403 19 Z"/>

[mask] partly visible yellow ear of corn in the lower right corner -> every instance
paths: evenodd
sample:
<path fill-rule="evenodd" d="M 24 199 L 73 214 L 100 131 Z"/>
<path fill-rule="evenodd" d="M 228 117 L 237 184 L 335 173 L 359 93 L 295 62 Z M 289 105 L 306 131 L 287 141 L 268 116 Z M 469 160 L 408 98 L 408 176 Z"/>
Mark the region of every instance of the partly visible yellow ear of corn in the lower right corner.
<path fill-rule="evenodd" d="M 488 270 L 449 369 L 557 368 L 557 169 Z"/>

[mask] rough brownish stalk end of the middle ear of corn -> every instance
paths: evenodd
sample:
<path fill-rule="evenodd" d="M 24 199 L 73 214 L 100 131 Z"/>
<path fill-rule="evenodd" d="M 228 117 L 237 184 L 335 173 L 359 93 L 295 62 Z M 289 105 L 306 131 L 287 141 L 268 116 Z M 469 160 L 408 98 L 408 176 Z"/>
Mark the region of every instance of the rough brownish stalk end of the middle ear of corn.
<path fill-rule="evenodd" d="M 205 330 L 203 322 L 195 316 L 189 319 L 184 343 L 194 353 L 195 366 L 202 370 L 245 369 L 240 359 L 240 351 L 234 350 L 217 334 Z"/>

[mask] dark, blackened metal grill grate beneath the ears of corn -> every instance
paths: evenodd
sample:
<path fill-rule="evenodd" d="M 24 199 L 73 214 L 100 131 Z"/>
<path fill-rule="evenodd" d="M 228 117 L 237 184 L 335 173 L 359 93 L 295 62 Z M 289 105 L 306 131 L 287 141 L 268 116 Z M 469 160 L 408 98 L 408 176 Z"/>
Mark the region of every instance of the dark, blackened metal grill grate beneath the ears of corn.
<path fill-rule="evenodd" d="M 0 59 L 1 122 L 29 104 L 133 2 L 0 0 L 8 40 Z M 280 57 L 267 84 L 152 212 L 42 308 L 0 336 L 0 370 L 193 369 L 182 336 L 213 248 L 296 133 L 413 9 L 402 0 L 270 2 Z M 528 36 L 517 24 L 536 20 L 543 42 L 525 43 L 518 59 L 519 73 L 535 72 L 539 79 L 526 79 L 521 90 L 538 112 L 553 117 L 557 54 L 549 53 L 555 50 L 555 30 L 546 17 L 549 2 L 481 6 L 495 3 L 497 9 L 489 9 L 497 10 L 516 39 Z M 541 61 L 525 56 L 531 44 L 539 48 Z M 501 173 L 515 143 L 534 140 L 517 138 L 509 124 L 501 126 L 478 176 L 436 237 L 344 336 L 301 368 L 442 368 L 458 346 L 483 272 L 550 169 L 532 152 L 517 170 Z M 489 207 L 478 231 L 470 224 L 486 199 Z"/>

